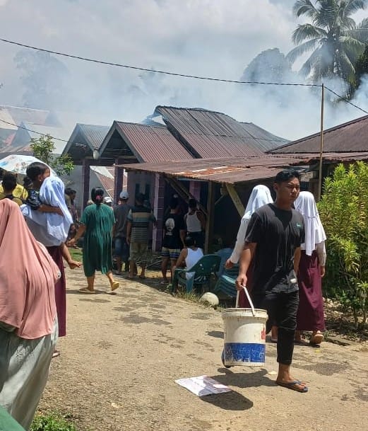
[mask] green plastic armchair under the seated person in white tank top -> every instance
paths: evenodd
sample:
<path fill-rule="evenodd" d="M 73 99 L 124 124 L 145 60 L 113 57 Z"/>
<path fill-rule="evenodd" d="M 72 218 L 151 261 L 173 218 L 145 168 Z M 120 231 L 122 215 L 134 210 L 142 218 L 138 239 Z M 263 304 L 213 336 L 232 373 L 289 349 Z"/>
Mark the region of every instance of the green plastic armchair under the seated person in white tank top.
<path fill-rule="evenodd" d="M 177 287 L 183 286 L 186 288 L 186 292 L 192 292 L 194 286 L 196 288 L 210 284 L 211 275 L 215 275 L 220 268 L 221 258 L 215 254 L 204 255 L 198 260 L 196 265 L 191 268 L 182 269 L 177 268 L 174 272 L 174 279 L 172 280 L 172 292 L 177 291 Z M 186 280 L 186 272 L 195 272 L 194 276 Z"/>

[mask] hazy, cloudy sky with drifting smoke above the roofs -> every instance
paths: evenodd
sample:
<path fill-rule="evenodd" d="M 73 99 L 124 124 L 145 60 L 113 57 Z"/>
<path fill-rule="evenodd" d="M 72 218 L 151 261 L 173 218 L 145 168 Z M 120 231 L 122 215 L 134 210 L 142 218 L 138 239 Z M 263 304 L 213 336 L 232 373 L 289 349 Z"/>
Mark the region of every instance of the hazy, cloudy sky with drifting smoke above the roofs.
<path fill-rule="evenodd" d="M 263 50 L 287 54 L 303 22 L 293 0 L 0 0 L 0 38 L 108 62 L 181 74 L 239 79 Z M 360 21 L 368 12 L 360 13 Z M 0 104 L 22 105 L 25 84 L 0 42 Z M 269 132 L 297 139 L 318 132 L 321 95 L 307 88 L 246 88 L 57 57 L 66 67 L 54 110 L 73 122 L 140 122 L 156 105 L 217 110 Z M 41 81 L 47 81 L 47 70 Z M 300 78 L 301 82 L 304 79 Z M 328 83 L 338 90 L 338 83 Z M 59 87 L 59 88 L 58 88 Z M 341 88 L 340 88 L 341 89 Z M 356 103 L 368 110 L 368 82 Z M 339 104 L 326 127 L 364 115 Z M 64 137 L 64 136 L 63 136 Z M 65 136 L 64 138 L 68 138 Z"/>

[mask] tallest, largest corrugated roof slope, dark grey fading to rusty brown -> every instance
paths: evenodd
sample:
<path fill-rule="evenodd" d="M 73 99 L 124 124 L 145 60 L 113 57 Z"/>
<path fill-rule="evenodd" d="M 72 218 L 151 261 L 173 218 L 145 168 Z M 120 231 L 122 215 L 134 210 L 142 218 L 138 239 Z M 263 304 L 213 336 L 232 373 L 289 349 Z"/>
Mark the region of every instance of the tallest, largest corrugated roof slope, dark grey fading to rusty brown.
<path fill-rule="evenodd" d="M 199 108 L 158 106 L 170 132 L 196 158 L 261 156 L 259 144 L 242 123 L 223 113 Z"/>

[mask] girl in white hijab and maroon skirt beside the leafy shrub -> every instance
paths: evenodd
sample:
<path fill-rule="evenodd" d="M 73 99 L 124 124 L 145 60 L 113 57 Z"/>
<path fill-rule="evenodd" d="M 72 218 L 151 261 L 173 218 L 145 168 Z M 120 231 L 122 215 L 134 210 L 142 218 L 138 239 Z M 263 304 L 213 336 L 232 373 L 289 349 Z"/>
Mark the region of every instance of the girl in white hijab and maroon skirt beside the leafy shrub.
<path fill-rule="evenodd" d="M 319 213 L 311 192 L 300 192 L 295 200 L 295 209 L 304 218 L 305 242 L 298 270 L 299 309 L 295 340 L 301 341 L 300 331 L 311 331 L 311 344 L 324 340 L 324 299 L 321 277 L 325 274 L 326 234 L 319 219 Z"/>

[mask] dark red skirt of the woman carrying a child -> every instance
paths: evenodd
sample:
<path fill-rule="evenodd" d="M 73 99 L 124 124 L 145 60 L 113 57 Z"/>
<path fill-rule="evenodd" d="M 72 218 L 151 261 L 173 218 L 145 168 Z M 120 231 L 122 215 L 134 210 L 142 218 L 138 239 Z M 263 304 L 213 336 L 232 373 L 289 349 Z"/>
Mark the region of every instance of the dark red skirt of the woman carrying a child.
<path fill-rule="evenodd" d="M 64 261 L 59 246 L 47 247 L 49 255 L 57 264 L 61 277 L 55 284 L 55 301 L 57 303 L 57 321 L 59 323 L 59 337 L 66 335 L 66 280 L 64 272 Z"/>

